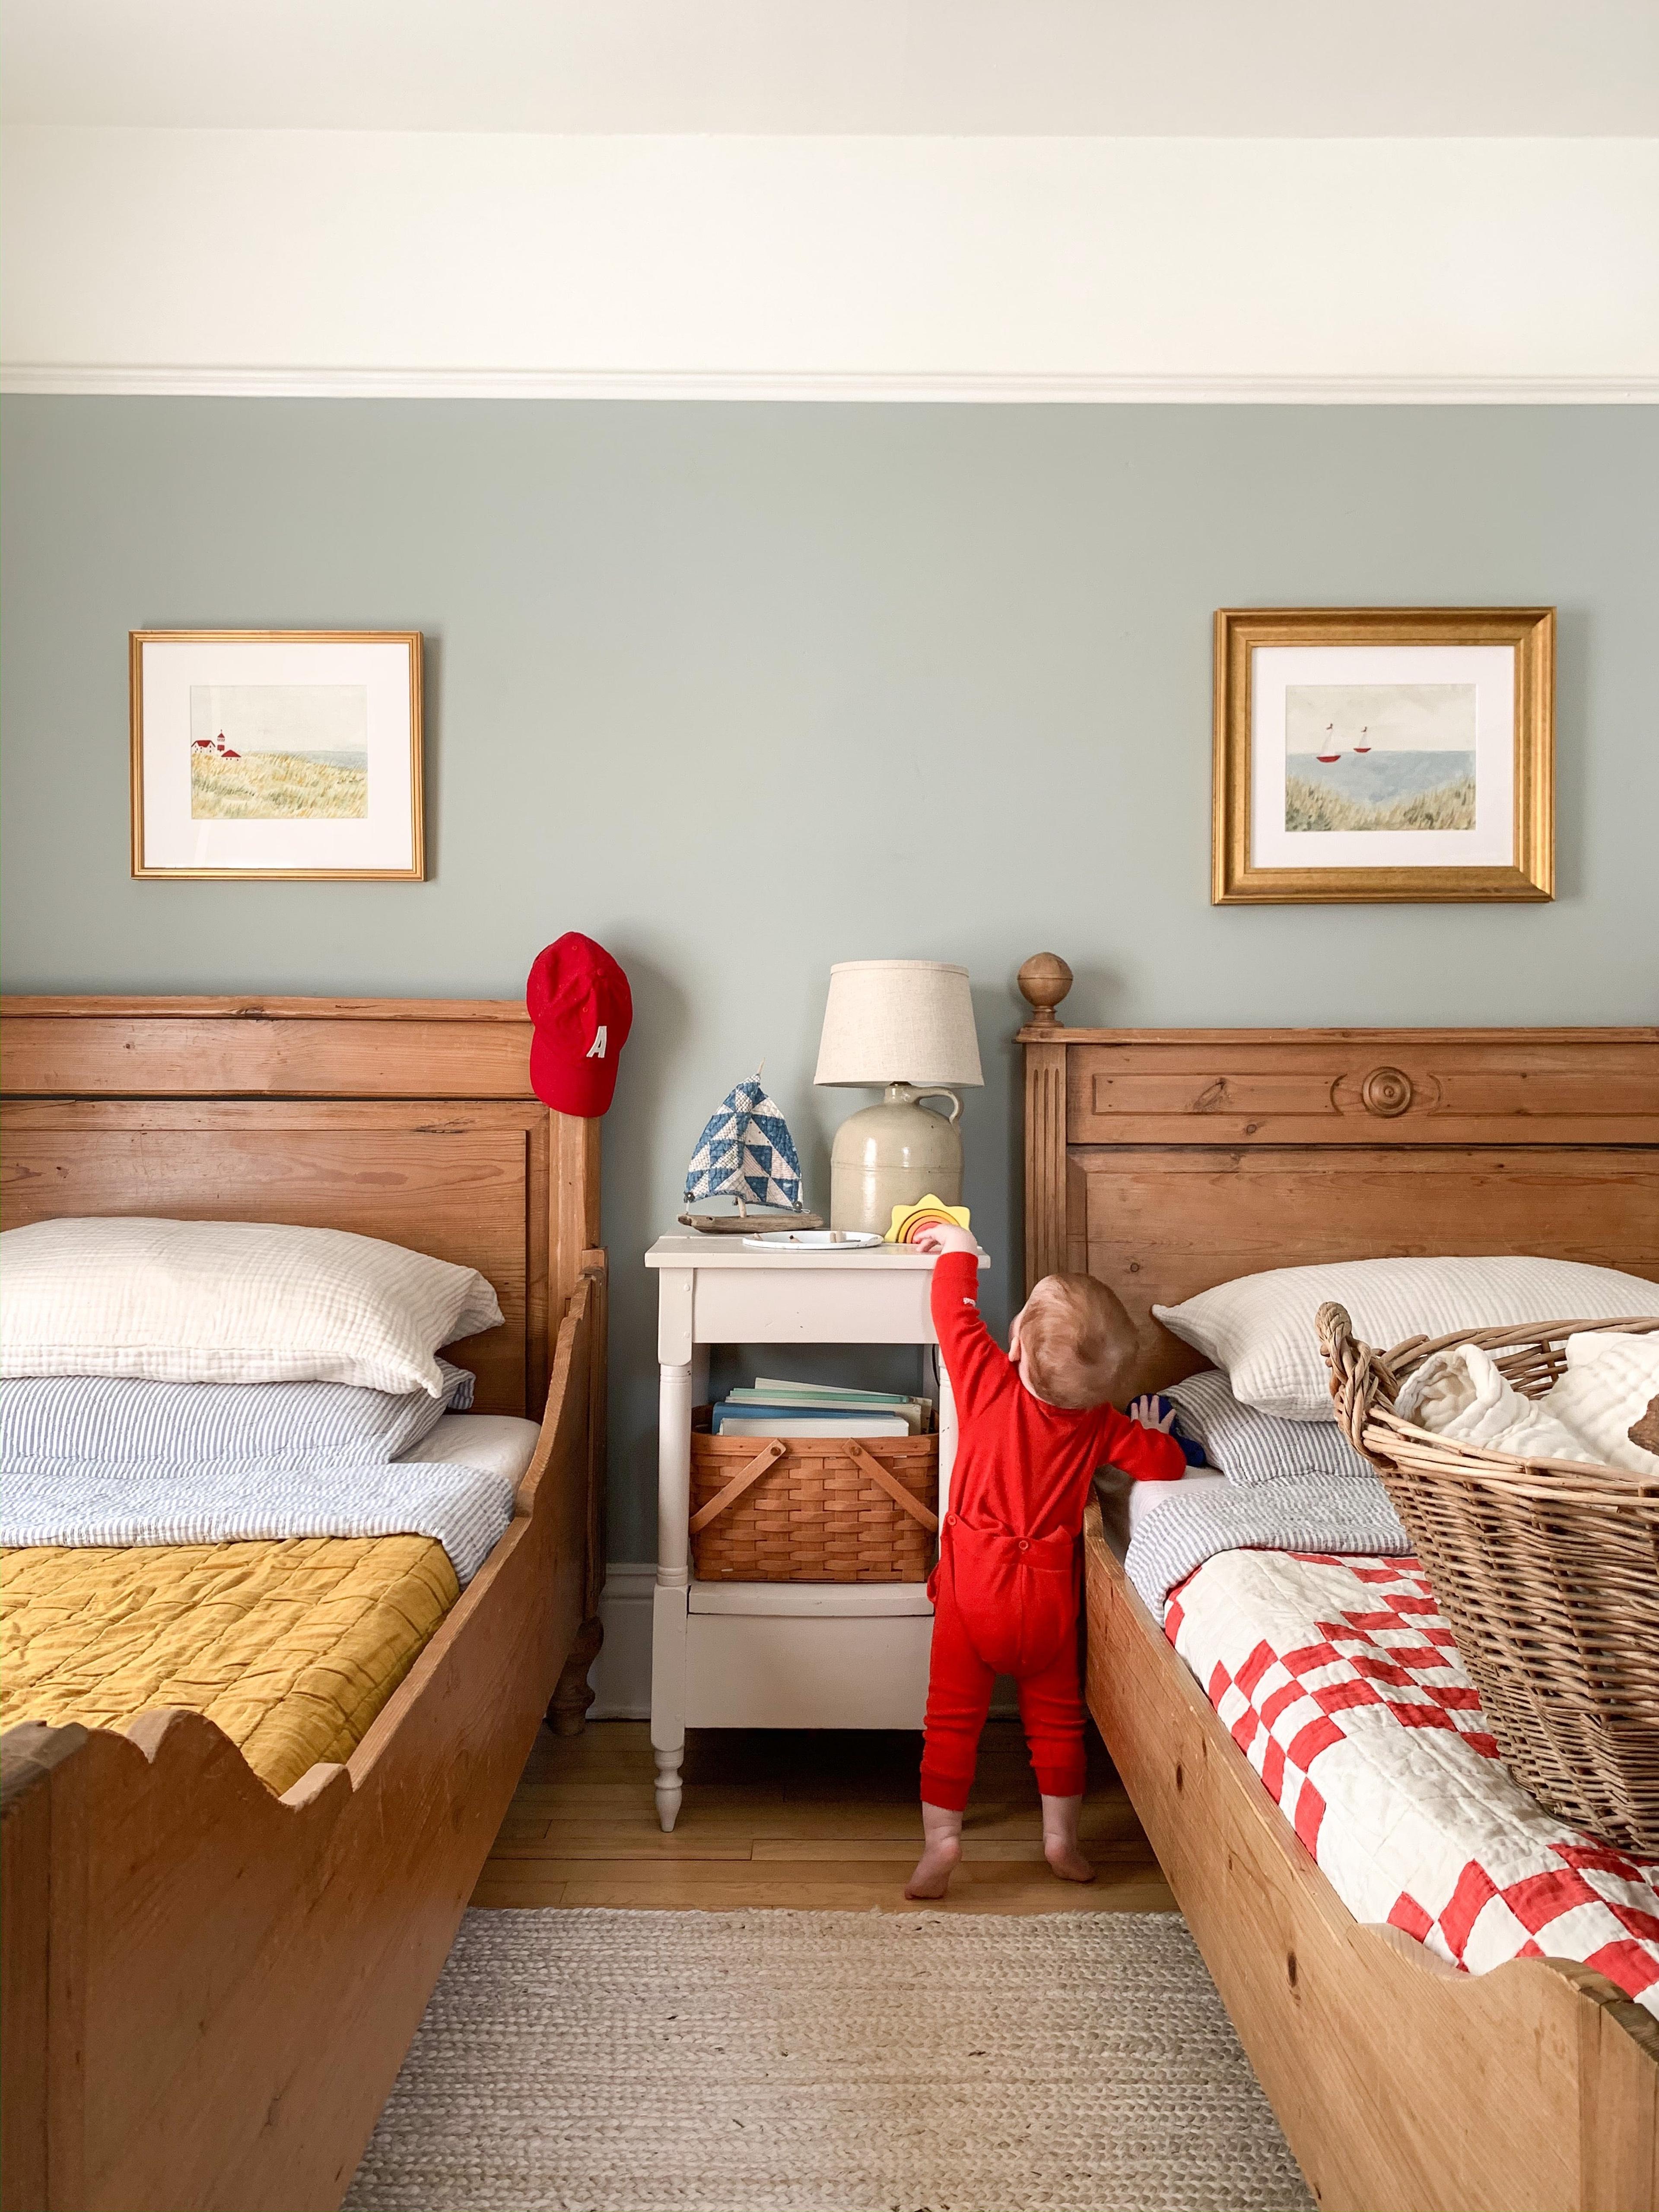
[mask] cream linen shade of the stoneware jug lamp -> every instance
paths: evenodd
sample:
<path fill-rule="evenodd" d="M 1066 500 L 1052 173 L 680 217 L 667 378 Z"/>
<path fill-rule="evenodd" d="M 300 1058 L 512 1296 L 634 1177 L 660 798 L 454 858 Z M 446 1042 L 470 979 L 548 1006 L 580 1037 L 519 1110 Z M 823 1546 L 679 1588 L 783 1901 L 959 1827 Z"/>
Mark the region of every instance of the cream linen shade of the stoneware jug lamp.
<path fill-rule="evenodd" d="M 982 1084 L 969 973 L 949 960 L 836 960 L 816 1084 Z"/>

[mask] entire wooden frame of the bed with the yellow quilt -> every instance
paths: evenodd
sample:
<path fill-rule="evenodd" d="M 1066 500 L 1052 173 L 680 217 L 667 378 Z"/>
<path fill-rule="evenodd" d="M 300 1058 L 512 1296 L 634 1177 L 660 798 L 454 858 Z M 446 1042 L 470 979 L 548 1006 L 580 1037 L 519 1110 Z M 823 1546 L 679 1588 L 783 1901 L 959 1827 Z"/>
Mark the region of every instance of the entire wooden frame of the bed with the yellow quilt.
<path fill-rule="evenodd" d="M 7 1225 L 294 1221 L 476 1265 L 507 1318 L 451 1358 L 480 1411 L 542 1422 L 507 1535 L 345 1765 L 274 1798 L 177 1710 L 0 1745 L 7 2212 L 327 2212 L 549 1699 L 566 1732 L 586 1710 L 599 1124 L 538 1104 L 520 1004 L 13 998 L 0 1015 Z"/>

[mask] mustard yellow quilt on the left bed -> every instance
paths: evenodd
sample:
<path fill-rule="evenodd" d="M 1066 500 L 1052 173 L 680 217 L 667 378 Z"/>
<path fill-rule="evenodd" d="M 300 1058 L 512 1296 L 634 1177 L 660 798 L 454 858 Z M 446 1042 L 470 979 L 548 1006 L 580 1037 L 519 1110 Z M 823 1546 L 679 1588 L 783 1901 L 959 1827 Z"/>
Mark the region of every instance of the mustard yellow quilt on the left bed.
<path fill-rule="evenodd" d="M 425 1535 L 0 1553 L 0 1725 L 186 1705 L 281 1794 L 347 1759 L 460 1588 Z"/>

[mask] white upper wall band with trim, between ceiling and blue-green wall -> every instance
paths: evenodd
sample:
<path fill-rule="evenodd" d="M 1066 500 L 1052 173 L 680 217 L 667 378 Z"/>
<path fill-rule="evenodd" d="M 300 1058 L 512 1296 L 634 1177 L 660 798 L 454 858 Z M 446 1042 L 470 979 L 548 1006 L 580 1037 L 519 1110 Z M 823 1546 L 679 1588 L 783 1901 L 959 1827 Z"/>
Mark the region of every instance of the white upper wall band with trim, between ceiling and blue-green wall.
<path fill-rule="evenodd" d="M 1659 142 L 13 128 L 4 392 L 1659 398 Z"/>

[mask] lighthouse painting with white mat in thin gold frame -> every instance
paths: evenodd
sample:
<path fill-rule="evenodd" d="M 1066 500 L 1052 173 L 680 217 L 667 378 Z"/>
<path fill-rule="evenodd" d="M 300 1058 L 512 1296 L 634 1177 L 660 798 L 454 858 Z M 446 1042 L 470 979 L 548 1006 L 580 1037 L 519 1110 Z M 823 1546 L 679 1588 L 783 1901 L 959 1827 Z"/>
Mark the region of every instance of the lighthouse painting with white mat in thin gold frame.
<path fill-rule="evenodd" d="M 133 874 L 420 883 L 420 630 L 133 630 Z"/>

